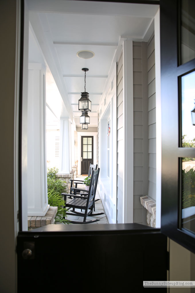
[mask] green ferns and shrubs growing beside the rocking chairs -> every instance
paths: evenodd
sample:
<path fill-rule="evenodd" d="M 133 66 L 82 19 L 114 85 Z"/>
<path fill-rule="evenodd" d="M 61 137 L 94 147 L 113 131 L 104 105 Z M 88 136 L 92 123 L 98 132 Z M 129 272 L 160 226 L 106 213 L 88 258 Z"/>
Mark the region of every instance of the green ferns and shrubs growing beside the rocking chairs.
<path fill-rule="evenodd" d="M 65 201 L 61 195 L 61 193 L 67 193 L 67 185 L 65 185 L 65 181 L 56 179 L 56 173 L 58 173 L 58 168 L 47 169 L 48 204 L 51 207 L 58 207 L 55 223 L 69 224 L 69 222 L 64 219 L 67 209 L 64 208 Z"/>

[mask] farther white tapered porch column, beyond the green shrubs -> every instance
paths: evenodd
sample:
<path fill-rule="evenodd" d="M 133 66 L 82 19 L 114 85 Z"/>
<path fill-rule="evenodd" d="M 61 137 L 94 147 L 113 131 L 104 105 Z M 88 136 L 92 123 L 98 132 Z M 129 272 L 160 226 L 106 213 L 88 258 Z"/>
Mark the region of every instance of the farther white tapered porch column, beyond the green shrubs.
<path fill-rule="evenodd" d="M 70 173 L 70 122 L 68 117 L 60 118 L 60 163 L 58 173 Z"/>

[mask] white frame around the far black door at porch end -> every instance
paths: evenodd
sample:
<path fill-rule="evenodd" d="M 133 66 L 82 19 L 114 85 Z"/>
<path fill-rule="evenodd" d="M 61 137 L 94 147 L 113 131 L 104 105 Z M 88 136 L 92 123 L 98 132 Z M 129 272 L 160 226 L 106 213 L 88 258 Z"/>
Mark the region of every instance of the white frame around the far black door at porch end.
<path fill-rule="evenodd" d="M 78 135 L 78 175 L 81 175 L 81 137 L 82 136 L 93 136 L 94 140 L 94 156 L 93 156 L 93 162 L 94 164 L 97 164 L 97 132 L 77 132 Z"/>

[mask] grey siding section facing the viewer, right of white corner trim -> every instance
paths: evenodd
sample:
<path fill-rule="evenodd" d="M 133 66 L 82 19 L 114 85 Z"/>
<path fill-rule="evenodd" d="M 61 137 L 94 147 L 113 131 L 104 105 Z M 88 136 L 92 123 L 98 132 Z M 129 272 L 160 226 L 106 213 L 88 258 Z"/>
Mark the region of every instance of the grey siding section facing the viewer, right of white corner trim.
<path fill-rule="evenodd" d="M 147 43 L 133 42 L 134 188 L 133 222 L 145 224 L 140 196 L 148 191 Z"/>

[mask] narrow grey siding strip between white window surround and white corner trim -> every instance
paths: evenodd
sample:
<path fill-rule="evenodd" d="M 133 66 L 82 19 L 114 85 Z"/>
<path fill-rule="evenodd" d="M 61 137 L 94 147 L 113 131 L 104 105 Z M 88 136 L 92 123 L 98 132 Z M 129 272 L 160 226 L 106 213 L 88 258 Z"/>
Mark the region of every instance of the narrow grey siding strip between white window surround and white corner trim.
<path fill-rule="evenodd" d="M 122 54 L 117 63 L 117 223 L 122 223 L 123 209 L 123 79 Z"/>

